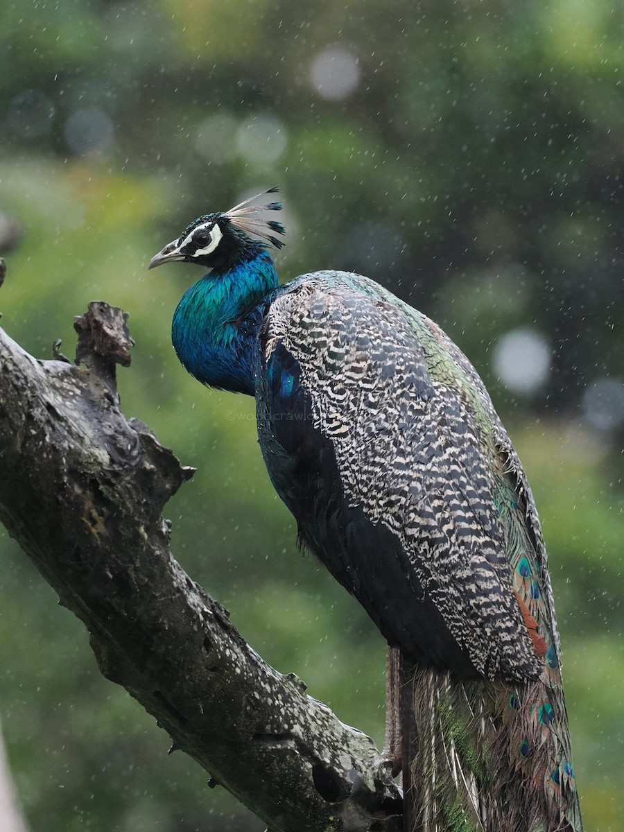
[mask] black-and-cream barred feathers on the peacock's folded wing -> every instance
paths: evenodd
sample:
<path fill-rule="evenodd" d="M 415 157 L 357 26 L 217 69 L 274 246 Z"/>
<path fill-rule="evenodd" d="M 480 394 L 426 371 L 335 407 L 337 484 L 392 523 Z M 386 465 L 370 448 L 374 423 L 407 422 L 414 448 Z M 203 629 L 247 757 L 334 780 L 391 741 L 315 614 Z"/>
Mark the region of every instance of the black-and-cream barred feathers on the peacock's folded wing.
<path fill-rule="evenodd" d="M 468 395 L 428 369 L 414 331 L 414 323 L 424 328 L 427 319 L 400 314 L 362 279 L 358 294 L 353 285 L 346 275 L 316 273 L 280 293 L 266 321 L 265 359 L 277 360 L 281 344 L 300 365 L 308 415 L 332 443 L 345 501 L 392 532 L 404 559 L 406 596 L 416 602 L 427 595 L 439 612 L 421 621 L 412 605 L 397 608 L 393 583 L 379 626 L 421 661 L 451 665 L 438 645 L 443 626 L 461 647 L 456 671 L 465 664 L 466 675 L 537 676 L 537 656 L 513 596 L 503 522 L 493 510 L 502 490 L 484 456 L 493 450 L 493 433 L 483 435 Z M 487 395 L 483 388 L 478 393 Z M 265 404 L 259 400 L 261 437 L 271 429 Z M 489 399 L 483 404 L 492 418 Z M 300 428 L 305 431 L 306 423 Z M 279 454 L 267 464 L 279 468 Z M 329 547 L 306 542 L 336 571 Z M 372 597 L 379 607 L 378 570 L 354 562 L 344 580 L 346 568 L 339 567 L 349 591 L 364 607 Z"/>

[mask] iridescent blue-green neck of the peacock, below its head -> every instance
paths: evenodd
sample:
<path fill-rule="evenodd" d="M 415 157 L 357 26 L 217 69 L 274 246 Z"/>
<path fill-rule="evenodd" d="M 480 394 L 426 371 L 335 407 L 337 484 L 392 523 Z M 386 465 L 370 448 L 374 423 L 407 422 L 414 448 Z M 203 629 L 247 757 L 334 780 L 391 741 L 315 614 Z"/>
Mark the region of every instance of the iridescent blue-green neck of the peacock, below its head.
<path fill-rule="evenodd" d="M 210 387 L 255 394 L 261 300 L 277 286 L 275 264 L 260 250 L 235 268 L 210 272 L 187 290 L 171 338 L 186 369 Z"/>

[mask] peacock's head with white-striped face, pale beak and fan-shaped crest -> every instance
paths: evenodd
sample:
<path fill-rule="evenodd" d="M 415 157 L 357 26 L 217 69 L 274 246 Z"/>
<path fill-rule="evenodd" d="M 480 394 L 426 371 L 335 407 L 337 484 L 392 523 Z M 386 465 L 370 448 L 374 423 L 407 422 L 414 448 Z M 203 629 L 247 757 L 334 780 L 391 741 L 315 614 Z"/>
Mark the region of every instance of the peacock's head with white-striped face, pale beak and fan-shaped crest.
<path fill-rule="evenodd" d="M 274 194 L 279 190 L 270 188 L 265 193 Z M 212 270 L 227 270 L 257 255 L 268 245 L 280 249 L 284 242 L 275 234 L 285 234 L 284 225 L 254 215 L 265 210 L 281 210 L 281 203 L 250 205 L 259 196 L 264 194 L 251 196 L 224 213 L 205 214 L 193 220 L 177 240 L 152 257 L 149 268 L 182 260 Z"/>

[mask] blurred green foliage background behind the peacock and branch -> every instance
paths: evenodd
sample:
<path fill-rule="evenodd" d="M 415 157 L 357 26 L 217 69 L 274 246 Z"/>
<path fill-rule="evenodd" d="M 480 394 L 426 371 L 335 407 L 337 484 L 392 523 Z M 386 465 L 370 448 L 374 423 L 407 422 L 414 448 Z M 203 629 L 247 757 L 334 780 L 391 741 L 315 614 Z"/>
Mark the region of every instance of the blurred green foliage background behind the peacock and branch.
<path fill-rule="evenodd" d="M 624 830 L 622 18 L 607 0 L 0 8 L 0 209 L 25 232 L 5 329 L 49 358 L 58 337 L 72 353 L 90 300 L 130 312 L 124 411 L 198 468 L 168 507 L 176 557 L 380 743 L 382 640 L 296 552 L 253 403 L 177 364 L 171 314 L 199 275 L 146 274 L 196 215 L 282 186 L 283 277 L 389 285 L 448 330 L 508 423 L 550 552 L 586 826 L 604 832 Z M 496 363 L 518 329 L 550 363 L 524 392 Z M 6 535 L 0 557 L 0 714 L 32 832 L 261 830 L 166 756 Z"/>

